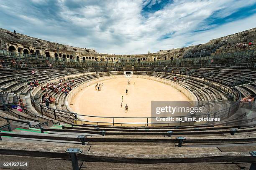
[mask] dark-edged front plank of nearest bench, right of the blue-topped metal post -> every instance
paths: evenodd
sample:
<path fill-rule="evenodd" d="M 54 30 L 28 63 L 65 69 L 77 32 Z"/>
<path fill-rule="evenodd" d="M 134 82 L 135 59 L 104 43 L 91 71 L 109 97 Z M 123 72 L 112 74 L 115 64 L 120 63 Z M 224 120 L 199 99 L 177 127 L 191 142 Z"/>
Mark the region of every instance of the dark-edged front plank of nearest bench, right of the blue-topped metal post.
<path fill-rule="evenodd" d="M 79 160 L 112 163 L 195 163 L 195 162 L 246 162 L 256 163 L 250 153 L 193 153 L 166 155 L 137 155 L 116 153 L 83 152 Z"/>

